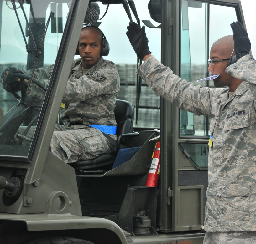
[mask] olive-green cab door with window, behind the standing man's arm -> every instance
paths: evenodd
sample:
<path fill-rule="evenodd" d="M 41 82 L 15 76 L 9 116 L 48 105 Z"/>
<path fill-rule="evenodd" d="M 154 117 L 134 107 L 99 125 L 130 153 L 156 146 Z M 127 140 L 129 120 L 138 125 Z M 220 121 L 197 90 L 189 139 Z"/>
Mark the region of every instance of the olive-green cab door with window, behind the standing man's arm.
<path fill-rule="evenodd" d="M 195 85 L 214 87 L 207 59 L 212 44 L 245 26 L 240 1 L 164 0 L 161 62 Z M 231 56 L 231 53 L 230 53 Z M 178 109 L 161 98 L 161 192 L 163 232 L 200 230 L 206 204 L 211 118 Z"/>

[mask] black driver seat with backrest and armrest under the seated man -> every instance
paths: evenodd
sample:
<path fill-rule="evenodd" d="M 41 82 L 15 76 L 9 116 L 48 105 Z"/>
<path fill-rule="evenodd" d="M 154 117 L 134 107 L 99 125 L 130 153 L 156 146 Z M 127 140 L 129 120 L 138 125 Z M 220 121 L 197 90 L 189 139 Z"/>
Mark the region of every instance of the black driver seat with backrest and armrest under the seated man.
<path fill-rule="evenodd" d="M 118 150 L 127 146 L 127 138 L 139 135 L 138 132 L 132 132 L 134 115 L 134 106 L 132 103 L 117 99 L 114 113 L 117 122 L 116 152 L 114 154 L 102 154 L 94 159 L 70 163 L 69 165 L 75 169 L 76 173 L 83 174 L 87 170 L 111 169 Z"/>

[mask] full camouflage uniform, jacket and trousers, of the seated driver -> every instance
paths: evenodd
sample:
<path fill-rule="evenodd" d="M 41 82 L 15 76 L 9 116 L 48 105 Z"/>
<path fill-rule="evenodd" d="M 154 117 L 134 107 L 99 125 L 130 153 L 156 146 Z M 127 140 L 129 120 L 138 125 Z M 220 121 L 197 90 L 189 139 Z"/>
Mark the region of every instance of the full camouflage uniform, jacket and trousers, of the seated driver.
<path fill-rule="evenodd" d="M 34 78 L 48 85 L 52 69 L 53 65 L 36 69 Z M 23 72 L 30 75 L 29 71 Z M 63 108 L 60 108 L 64 125 L 55 125 L 50 143 L 52 153 L 71 163 L 115 150 L 115 146 L 100 130 L 88 125 L 116 126 L 113 111 L 119 85 L 118 71 L 111 61 L 101 58 L 85 74 L 82 73 L 81 59 L 73 61 L 63 96 Z M 42 102 L 45 92 L 37 85 L 31 84 L 30 94 L 35 102 Z M 33 130 L 29 133 L 32 134 Z M 108 135 L 115 140 L 117 138 L 116 135 Z"/>

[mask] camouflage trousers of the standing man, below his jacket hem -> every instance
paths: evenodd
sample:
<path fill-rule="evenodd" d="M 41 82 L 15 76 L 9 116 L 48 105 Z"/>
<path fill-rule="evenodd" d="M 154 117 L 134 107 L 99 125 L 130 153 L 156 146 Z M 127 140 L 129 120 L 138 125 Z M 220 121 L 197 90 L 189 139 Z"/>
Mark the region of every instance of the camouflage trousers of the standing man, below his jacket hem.
<path fill-rule="evenodd" d="M 203 244 L 256 244 L 256 231 L 207 232 Z"/>

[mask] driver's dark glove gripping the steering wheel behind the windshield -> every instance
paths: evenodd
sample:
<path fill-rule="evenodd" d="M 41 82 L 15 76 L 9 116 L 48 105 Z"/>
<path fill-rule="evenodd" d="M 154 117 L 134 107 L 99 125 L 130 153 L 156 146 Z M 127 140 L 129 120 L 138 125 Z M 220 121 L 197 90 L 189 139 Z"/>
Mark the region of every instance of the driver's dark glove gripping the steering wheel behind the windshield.
<path fill-rule="evenodd" d="M 1 75 L 3 88 L 8 92 L 17 92 L 20 91 L 20 79 L 15 77 L 14 74 L 23 74 L 20 69 L 15 67 L 8 67 L 5 69 Z"/>

